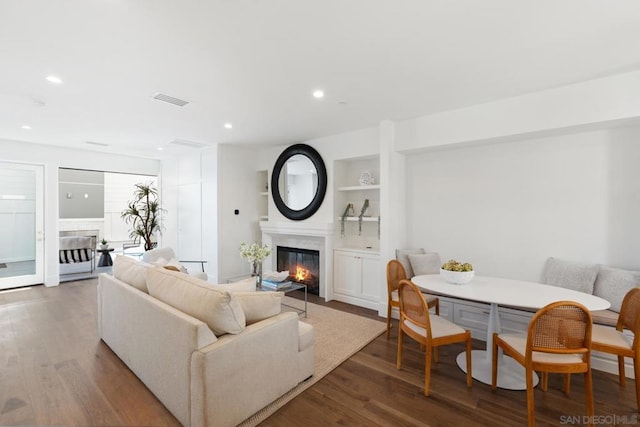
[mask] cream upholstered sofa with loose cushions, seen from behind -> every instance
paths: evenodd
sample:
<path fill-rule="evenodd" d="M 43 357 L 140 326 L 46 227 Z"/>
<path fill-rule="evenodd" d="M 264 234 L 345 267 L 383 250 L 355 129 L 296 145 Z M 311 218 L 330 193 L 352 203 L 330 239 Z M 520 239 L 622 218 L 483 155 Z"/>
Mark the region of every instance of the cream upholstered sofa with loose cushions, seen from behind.
<path fill-rule="evenodd" d="M 214 286 L 128 257 L 99 278 L 100 337 L 185 426 L 237 425 L 313 374 L 281 293 Z"/>

